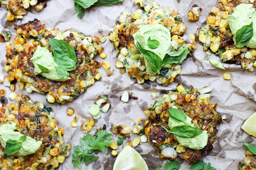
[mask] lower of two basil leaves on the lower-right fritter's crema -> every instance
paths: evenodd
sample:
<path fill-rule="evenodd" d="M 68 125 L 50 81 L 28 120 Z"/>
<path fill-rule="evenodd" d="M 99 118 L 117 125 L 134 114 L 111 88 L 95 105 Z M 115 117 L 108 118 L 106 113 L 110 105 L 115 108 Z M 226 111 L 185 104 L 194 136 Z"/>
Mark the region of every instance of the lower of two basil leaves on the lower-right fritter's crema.
<path fill-rule="evenodd" d="M 198 136 L 203 133 L 203 131 L 199 130 L 196 127 L 191 127 L 191 126 L 175 126 L 171 129 L 171 133 L 175 134 L 180 137 L 185 137 L 185 138 L 193 138 L 195 136 Z"/>

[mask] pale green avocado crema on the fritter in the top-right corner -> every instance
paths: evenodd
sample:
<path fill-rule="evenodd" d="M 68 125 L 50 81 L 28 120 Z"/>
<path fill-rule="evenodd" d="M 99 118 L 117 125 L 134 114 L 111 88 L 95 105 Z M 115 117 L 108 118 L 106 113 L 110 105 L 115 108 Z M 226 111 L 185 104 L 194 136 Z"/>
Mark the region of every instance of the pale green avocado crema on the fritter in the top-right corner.
<path fill-rule="evenodd" d="M 236 38 L 236 32 L 245 25 L 253 23 L 253 37 L 245 45 L 250 48 L 256 48 L 256 11 L 253 8 L 253 4 L 240 4 L 238 5 L 232 15 L 229 15 L 227 22 L 231 29 L 234 38 Z"/>

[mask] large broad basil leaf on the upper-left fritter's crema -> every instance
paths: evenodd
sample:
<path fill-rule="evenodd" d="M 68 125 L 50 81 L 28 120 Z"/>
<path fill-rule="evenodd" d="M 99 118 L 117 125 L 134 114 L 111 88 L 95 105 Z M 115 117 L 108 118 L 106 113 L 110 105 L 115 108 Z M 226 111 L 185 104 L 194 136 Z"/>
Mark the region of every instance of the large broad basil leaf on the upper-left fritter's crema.
<path fill-rule="evenodd" d="M 54 61 L 58 66 L 66 71 L 72 71 L 76 68 L 75 49 L 63 40 L 49 38 L 53 49 Z"/>

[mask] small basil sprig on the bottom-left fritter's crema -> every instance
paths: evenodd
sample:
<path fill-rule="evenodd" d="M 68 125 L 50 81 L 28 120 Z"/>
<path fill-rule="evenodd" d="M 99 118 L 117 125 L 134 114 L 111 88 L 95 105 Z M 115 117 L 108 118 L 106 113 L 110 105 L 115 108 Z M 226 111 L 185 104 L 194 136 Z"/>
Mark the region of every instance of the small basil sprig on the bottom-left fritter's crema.
<path fill-rule="evenodd" d="M 18 141 L 14 141 L 14 140 L 9 139 L 6 142 L 6 145 L 5 145 L 5 152 L 8 155 L 12 155 L 12 154 L 18 152 L 21 148 L 21 142 L 24 141 L 26 138 L 27 138 L 27 136 L 23 135 L 19 138 Z"/>

